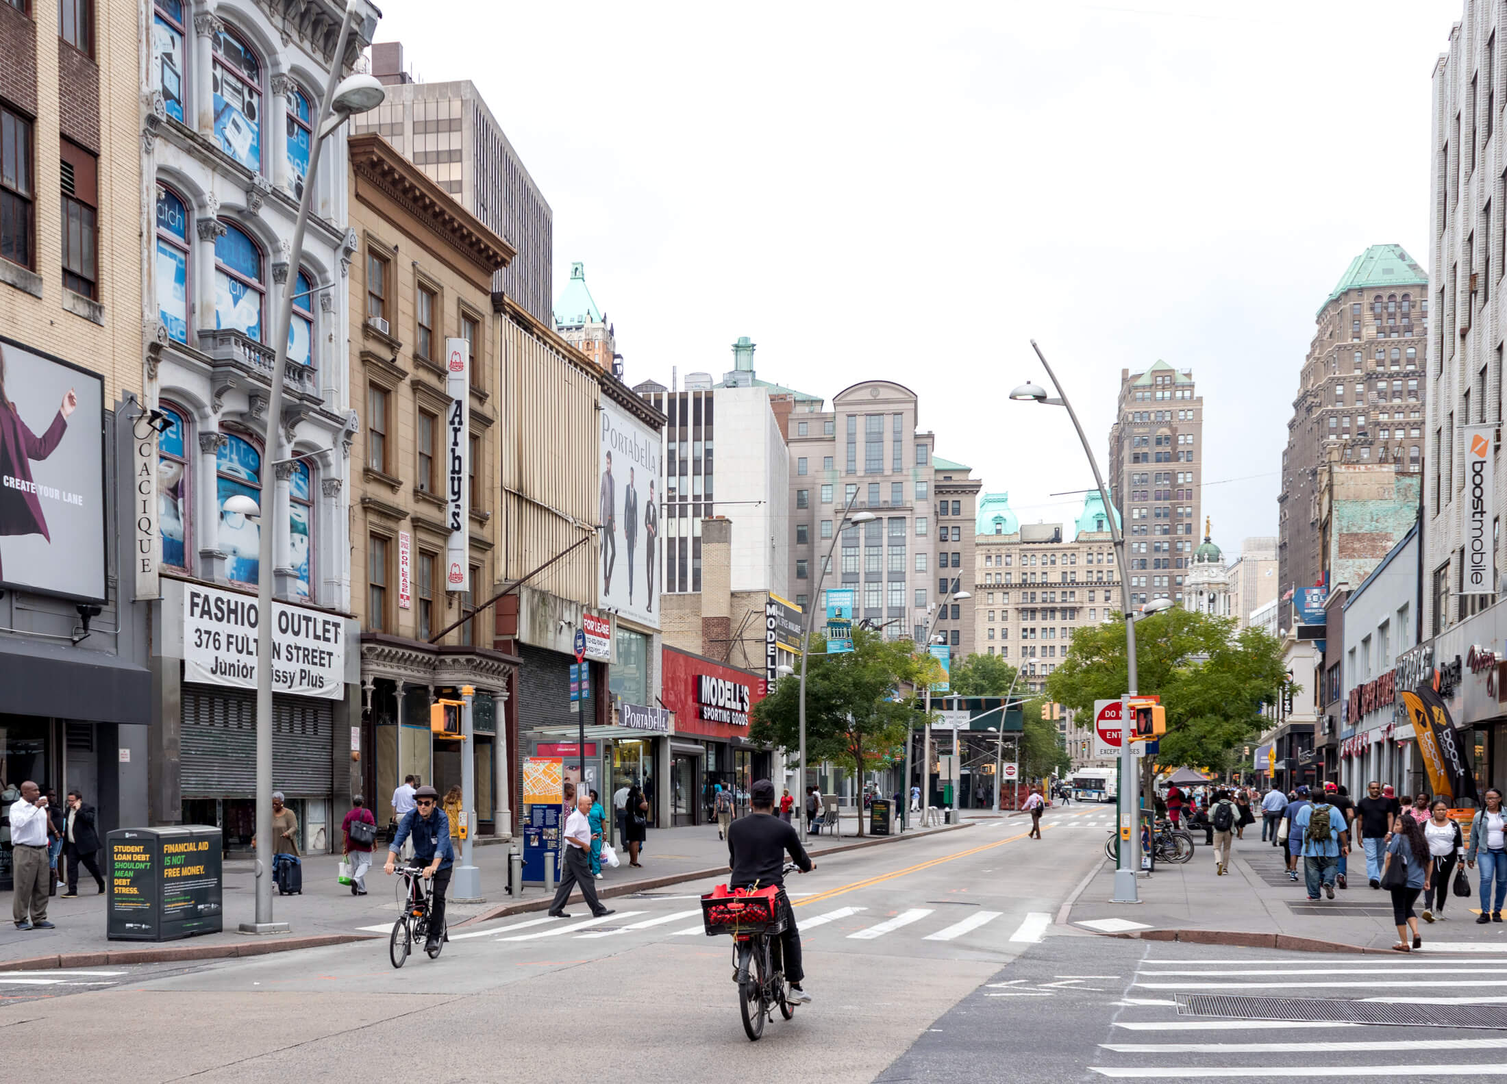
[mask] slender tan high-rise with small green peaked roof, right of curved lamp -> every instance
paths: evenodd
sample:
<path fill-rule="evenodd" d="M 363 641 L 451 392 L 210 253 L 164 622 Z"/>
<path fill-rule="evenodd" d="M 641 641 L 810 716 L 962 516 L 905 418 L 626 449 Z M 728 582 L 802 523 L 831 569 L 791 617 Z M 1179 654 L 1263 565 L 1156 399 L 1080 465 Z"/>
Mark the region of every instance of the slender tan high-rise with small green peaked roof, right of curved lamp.
<path fill-rule="evenodd" d="M 1109 428 L 1109 497 L 1126 530 L 1130 604 L 1183 601 L 1198 548 L 1204 400 L 1192 369 L 1120 370 Z"/>

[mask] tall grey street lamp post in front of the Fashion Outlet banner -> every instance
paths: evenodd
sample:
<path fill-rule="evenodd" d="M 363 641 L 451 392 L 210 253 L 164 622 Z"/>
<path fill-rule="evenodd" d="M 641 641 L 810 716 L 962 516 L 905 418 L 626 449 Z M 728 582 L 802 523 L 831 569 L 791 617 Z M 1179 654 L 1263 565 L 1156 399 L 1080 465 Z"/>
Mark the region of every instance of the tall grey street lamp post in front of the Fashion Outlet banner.
<path fill-rule="evenodd" d="M 288 367 L 288 325 L 292 321 L 292 298 L 298 282 L 298 263 L 303 259 L 303 235 L 309 226 L 313 205 L 315 176 L 319 169 L 319 152 L 327 136 L 335 132 L 347 117 L 365 113 L 381 104 L 386 96 L 381 83 L 374 75 L 348 75 L 341 80 L 341 63 L 351 35 L 351 23 L 357 8 L 365 23 L 365 38 L 375 32 L 375 14 L 357 0 L 345 5 L 341 33 L 330 62 L 330 78 L 319 101 L 315 123 L 313 146 L 309 148 L 309 170 L 298 199 L 298 218 L 292 227 L 288 250 L 288 283 L 277 301 L 277 319 L 273 322 L 273 345 L 277 351 L 271 372 L 271 393 L 267 397 L 267 458 L 279 459 L 282 443 L 283 373 Z M 264 489 L 264 494 L 267 491 Z M 265 497 L 264 497 L 265 500 Z M 273 539 L 279 524 L 267 509 L 259 509 L 256 545 L 256 921 L 241 923 L 241 933 L 286 933 L 288 923 L 273 921 Z"/>

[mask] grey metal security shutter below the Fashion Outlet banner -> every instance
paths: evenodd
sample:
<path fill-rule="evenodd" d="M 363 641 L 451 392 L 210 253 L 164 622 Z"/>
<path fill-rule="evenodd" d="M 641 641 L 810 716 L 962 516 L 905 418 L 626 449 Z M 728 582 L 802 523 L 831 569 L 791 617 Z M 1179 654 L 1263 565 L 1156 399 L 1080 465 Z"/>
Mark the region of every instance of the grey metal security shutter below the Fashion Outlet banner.
<path fill-rule="evenodd" d="M 256 697 L 241 690 L 182 687 L 184 798 L 256 795 Z M 289 798 L 332 790 L 335 706 L 329 700 L 273 699 L 273 786 Z"/>

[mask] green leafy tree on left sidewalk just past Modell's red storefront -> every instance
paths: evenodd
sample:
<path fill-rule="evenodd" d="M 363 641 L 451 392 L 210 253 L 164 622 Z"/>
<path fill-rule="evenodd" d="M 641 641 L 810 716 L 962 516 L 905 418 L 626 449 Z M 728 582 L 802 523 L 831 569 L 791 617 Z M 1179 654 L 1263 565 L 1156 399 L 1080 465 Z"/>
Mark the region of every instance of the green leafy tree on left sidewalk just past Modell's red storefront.
<path fill-rule="evenodd" d="M 853 650 L 838 655 L 827 655 L 826 640 L 814 637 L 806 659 L 808 762 L 851 768 L 859 786 L 865 772 L 903 763 L 916 709 L 909 696 L 900 699 L 900 690 L 934 676 L 934 667 L 909 640 L 885 640 L 864 628 L 853 629 Z M 800 748 L 799 674 L 776 682 L 754 706 L 749 741 Z M 857 830 L 862 836 L 862 816 Z"/>

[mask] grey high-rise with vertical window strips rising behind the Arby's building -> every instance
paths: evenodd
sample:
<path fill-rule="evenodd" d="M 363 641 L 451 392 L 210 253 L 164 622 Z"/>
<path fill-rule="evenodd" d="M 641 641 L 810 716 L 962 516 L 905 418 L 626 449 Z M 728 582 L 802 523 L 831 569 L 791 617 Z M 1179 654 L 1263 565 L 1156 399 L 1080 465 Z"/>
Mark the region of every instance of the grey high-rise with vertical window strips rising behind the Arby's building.
<path fill-rule="evenodd" d="M 380 134 L 512 245 L 518 254 L 493 277 L 493 289 L 550 327 L 555 212 L 476 84 L 414 83 L 401 42 L 372 45 L 371 56 L 387 98 L 351 117 L 351 134 Z"/>

